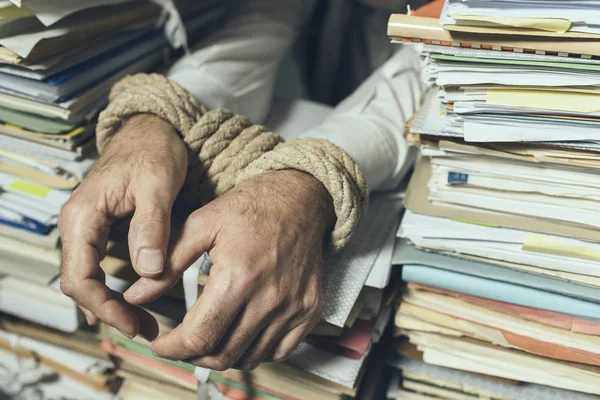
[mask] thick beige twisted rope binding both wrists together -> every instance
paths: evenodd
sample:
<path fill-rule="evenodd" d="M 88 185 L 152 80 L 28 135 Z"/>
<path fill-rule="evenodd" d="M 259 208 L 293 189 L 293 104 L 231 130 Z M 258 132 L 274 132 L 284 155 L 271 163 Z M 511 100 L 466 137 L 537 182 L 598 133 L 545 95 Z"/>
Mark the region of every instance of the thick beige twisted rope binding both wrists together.
<path fill-rule="evenodd" d="M 102 152 L 121 124 L 148 113 L 170 122 L 189 151 L 183 198 L 200 206 L 235 185 L 269 171 L 296 169 L 318 179 L 329 191 L 337 222 L 335 249 L 348 243 L 369 201 L 358 165 L 327 140 L 282 138 L 226 109 L 207 111 L 185 89 L 158 74 L 137 74 L 117 83 L 99 117 L 96 132 Z"/>

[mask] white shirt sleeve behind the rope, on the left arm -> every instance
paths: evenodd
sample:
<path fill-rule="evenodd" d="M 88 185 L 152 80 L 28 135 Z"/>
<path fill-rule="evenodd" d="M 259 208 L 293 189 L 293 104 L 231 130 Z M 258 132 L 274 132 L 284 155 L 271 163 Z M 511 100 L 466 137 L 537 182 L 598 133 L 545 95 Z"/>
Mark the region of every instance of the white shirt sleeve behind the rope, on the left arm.
<path fill-rule="evenodd" d="M 262 123 L 277 68 L 314 0 L 239 1 L 224 27 L 194 46 L 167 72 L 208 108 L 226 107 Z"/>

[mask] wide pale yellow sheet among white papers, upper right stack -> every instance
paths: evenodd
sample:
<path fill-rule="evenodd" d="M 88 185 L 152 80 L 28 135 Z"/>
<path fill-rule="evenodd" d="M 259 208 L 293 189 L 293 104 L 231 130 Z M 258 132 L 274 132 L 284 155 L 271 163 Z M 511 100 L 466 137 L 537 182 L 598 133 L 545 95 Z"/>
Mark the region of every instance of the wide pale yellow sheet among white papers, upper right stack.
<path fill-rule="evenodd" d="M 507 107 L 537 108 L 579 113 L 600 112 L 600 96 L 588 93 L 489 89 L 487 91 L 486 103 Z"/>

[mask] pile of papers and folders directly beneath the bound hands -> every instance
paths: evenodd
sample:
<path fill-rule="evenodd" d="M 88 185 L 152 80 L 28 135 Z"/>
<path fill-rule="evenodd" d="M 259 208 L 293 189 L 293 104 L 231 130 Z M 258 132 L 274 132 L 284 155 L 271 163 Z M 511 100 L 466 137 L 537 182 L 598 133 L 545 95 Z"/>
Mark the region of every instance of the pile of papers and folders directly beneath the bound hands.
<path fill-rule="evenodd" d="M 326 258 L 321 322 L 284 364 L 263 365 L 249 377 L 233 370 L 211 373 L 211 381 L 223 395 L 246 398 L 252 393 L 266 399 L 307 400 L 356 396 L 366 361 L 392 314 L 393 294 L 387 286 L 398 223 L 390 216 L 398 215 L 400 206 L 401 200 L 396 196 L 371 199 L 369 213 L 350 244 L 339 254 Z M 101 266 L 107 274 L 107 284 L 123 292 L 136 275 L 128 262 L 116 257 L 118 254 L 128 252 L 115 245 Z M 208 258 L 203 260 L 198 278 L 200 293 L 211 266 Z M 161 333 L 170 331 L 183 319 L 183 299 L 182 288 L 176 287 L 170 296 L 148 305 L 159 321 Z M 120 360 L 117 373 L 126 382 L 133 382 L 123 390 L 144 390 L 142 382 L 159 380 L 169 391 L 183 390 L 193 395 L 196 380 L 190 364 L 157 359 L 144 339 L 130 340 L 110 327 L 104 327 L 102 338 L 106 353 Z M 138 395 L 143 398 L 139 392 Z"/>

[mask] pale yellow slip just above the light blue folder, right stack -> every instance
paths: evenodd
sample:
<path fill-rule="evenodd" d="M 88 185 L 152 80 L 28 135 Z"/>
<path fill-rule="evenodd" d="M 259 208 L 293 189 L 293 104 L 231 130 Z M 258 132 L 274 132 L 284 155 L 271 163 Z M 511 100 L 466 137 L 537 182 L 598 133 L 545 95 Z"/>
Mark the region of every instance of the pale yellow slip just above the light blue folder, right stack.
<path fill-rule="evenodd" d="M 579 258 L 582 260 L 600 261 L 600 250 L 579 246 L 566 240 L 557 239 L 537 233 L 527 233 L 523 250 L 555 256 Z"/>

